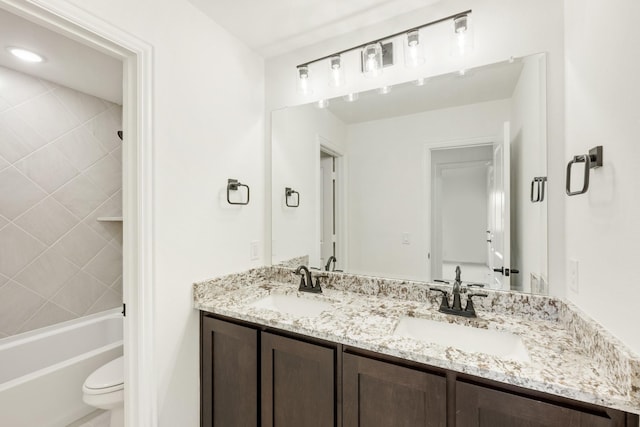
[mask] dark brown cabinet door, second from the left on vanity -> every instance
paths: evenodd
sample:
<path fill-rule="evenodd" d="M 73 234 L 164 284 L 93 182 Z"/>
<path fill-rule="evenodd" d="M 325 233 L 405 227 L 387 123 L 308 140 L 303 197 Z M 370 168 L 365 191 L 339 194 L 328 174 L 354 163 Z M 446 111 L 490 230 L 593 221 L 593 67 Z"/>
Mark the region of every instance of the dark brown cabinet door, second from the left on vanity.
<path fill-rule="evenodd" d="M 336 425 L 336 350 L 262 333 L 262 426 Z"/>

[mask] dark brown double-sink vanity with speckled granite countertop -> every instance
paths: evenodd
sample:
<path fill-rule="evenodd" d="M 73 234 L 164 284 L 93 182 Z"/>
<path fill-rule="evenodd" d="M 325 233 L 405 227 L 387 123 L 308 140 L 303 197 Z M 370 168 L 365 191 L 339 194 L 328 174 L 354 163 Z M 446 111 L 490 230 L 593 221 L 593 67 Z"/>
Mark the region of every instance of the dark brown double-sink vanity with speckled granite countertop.
<path fill-rule="evenodd" d="M 639 361 L 561 301 L 489 291 L 461 319 L 425 284 L 333 273 L 308 295 L 291 271 L 195 285 L 201 425 L 639 425 Z M 399 334 L 403 318 L 513 334 L 527 354 Z"/>

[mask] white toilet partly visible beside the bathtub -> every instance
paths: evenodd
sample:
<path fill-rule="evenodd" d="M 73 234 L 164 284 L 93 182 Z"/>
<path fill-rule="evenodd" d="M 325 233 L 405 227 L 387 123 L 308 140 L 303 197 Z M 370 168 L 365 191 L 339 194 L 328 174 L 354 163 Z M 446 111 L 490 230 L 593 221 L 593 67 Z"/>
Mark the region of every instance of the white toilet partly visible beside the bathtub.
<path fill-rule="evenodd" d="M 111 412 L 111 427 L 124 427 L 124 358 L 112 360 L 93 371 L 82 386 L 87 405 Z"/>

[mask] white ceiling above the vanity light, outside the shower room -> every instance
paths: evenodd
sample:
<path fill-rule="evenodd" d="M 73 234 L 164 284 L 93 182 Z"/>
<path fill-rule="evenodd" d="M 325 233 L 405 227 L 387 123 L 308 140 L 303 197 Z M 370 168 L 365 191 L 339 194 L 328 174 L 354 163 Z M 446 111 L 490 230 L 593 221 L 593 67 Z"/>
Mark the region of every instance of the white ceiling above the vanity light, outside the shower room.
<path fill-rule="evenodd" d="M 440 0 L 189 0 L 265 58 L 353 32 Z"/>

